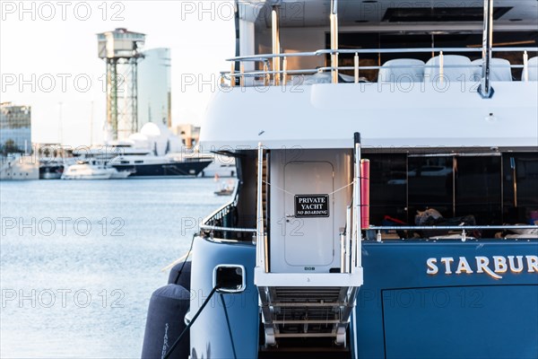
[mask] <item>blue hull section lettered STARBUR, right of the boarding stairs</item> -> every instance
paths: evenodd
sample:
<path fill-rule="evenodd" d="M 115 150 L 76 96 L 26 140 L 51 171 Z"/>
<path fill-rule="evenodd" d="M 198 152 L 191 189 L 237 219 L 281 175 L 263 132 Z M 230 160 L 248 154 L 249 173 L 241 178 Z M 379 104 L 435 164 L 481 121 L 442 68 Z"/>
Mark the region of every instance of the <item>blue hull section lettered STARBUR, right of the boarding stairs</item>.
<path fill-rule="evenodd" d="M 364 243 L 359 357 L 538 357 L 538 270 L 526 263 L 537 255 L 538 241 Z M 520 272 L 509 256 L 523 256 Z"/>

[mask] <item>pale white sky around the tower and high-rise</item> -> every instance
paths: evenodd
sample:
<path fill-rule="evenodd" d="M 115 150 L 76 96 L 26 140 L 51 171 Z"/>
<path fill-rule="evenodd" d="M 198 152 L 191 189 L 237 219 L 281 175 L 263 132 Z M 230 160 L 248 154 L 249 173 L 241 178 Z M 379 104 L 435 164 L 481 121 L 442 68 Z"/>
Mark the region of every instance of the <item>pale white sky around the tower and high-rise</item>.
<path fill-rule="evenodd" d="M 146 34 L 145 49 L 171 48 L 173 124 L 199 124 L 213 94 L 209 84 L 200 89 L 199 80 L 216 79 L 230 67 L 224 59 L 235 53 L 230 1 L 1 0 L 0 5 L 0 101 L 31 106 L 36 143 L 56 143 L 60 136 L 65 144 L 87 145 L 91 136 L 100 142 L 106 66 L 97 57 L 99 32 L 126 28 Z M 186 78 L 196 83 L 183 83 Z"/>

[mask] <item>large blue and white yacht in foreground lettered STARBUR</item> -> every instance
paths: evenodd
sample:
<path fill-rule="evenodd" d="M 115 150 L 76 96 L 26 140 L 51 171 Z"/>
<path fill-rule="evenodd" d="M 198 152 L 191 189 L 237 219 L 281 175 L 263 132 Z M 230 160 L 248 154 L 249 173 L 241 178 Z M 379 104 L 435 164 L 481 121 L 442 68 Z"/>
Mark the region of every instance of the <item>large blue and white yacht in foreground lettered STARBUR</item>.
<path fill-rule="evenodd" d="M 457 3 L 235 2 L 239 182 L 143 358 L 538 357 L 538 4 Z"/>

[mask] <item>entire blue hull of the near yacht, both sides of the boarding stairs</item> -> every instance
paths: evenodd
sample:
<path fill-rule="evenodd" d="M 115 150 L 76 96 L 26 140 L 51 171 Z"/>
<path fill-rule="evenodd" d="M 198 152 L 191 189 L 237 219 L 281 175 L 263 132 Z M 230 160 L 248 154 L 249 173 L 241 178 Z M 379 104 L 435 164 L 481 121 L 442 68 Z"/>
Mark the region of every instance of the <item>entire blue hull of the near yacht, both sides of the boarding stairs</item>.
<path fill-rule="evenodd" d="M 244 266 L 247 288 L 213 297 L 190 329 L 190 355 L 233 358 L 235 347 L 238 358 L 258 357 L 255 246 L 196 238 L 194 253 L 191 318 L 213 288 L 217 265 Z M 350 350 L 338 357 L 354 358 L 355 347 L 359 358 L 538 357 L 533 256 L 535 240 L 364 241 L 364 285 L 348 331 Z M 437 273 L 429 274 L 434 267 Z"/>

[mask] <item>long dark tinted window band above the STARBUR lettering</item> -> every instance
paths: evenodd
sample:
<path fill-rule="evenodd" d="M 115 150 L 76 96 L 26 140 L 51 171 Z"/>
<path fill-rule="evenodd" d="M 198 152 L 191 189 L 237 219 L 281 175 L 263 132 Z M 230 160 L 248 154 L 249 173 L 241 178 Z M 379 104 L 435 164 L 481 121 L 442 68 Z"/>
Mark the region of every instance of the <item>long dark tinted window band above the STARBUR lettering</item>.
<path fill-rule="evenodd" d="M 477 224 L 530 223 L 538 211 L 538 154 L 415 156 L 369 153 L 370 223 L 414 224 L 417 211 Z"/>

